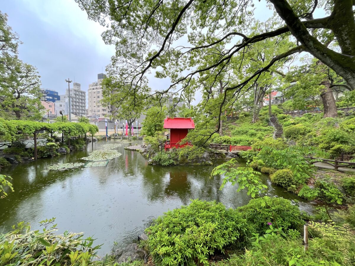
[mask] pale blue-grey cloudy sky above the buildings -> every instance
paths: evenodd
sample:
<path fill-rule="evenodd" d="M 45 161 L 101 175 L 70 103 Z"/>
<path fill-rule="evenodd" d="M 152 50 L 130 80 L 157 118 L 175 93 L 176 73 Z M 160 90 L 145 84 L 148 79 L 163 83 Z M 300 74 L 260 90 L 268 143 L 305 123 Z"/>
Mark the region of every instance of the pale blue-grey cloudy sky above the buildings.
<path fill-rule="evenodd" d="M 272 11 L 255 10 L 255 17 L 265 21 Z M 97 81 L 98 73 L 114 54 L 114 46 L 104 44 L 101 33 L 105 30 L 99 23 L 87 19 L 74 0 L 0 0 L 0 10 L 8 15 L 8 25 L 20 35 L 19 57 L 37 67 L 42 88 L 54 89 L 64 94 L 65 79 L 81 84 L 87 91 L 89 84 Z M 152 89 L 165 89 L 168 79 L 148 76 Z M 72 86 L 72 83 L 71 83 Z M 196 104 L 201 95 L 195 96 Z"/>

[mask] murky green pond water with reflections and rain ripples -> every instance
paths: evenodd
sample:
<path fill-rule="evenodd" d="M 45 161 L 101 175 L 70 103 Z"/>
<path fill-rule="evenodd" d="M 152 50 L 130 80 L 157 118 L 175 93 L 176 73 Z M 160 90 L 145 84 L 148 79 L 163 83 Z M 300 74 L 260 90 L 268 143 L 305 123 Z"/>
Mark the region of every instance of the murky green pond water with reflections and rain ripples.
<path fill-rule="evenodd" d="M 19 221 L 39 229 L 39 221 L 56 217 L 58 233 L 93 235 L 97 244 L 104 243 L 99 252 L 104 255 L 114 241 L 119 245 L 134 242 L 153 218 L 189 204 L 190 199 L 216 200 L 233 208 L 250 200 L 246 192 L 237 193 L 236 186 L 219 190 L 222 178 L 210 178 L 214 166 L 151 166 L 137 151 L 124 150 L 129 143 L 116 148 L 122 155 L 109 160 L 107 166 L 44 171 L 53 163 L 85 162 L 80 158 L 105 144 L 90 143 L 84 151 L 3 169 L 2 174 L 13 178 L 15 192 L 0 200 L 0 232 L 9 231 Z M 269 196 L 298 200 L 301 210 L 312 212 L 315 203 L 285 192 L 266 175 L 261 178 Z"/>

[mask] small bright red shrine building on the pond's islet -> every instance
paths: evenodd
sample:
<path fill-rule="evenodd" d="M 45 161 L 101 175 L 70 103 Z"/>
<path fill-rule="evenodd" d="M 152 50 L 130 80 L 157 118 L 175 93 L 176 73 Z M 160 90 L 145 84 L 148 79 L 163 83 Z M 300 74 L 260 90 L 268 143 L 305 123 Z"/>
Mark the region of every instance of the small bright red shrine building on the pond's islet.
<path fill-rule="evenodd" d="M 164 128 L 170 129 L 170 144 L 165 144 L 165 150 L 170 148 L 182 148 L 187 143 L 179 144 L 184 139 L 189 129 L 195 128 L 195 123 L 191 117 L 166 117 Z"/>

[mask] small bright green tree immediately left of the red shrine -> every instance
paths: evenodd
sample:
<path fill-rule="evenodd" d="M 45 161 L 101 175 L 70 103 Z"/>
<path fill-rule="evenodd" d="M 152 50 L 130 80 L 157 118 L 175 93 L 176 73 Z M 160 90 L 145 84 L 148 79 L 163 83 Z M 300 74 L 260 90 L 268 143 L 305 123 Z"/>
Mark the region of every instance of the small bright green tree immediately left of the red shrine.
<path fill-rule="evenodd" d="M 167 114 L 166 106 L 162 108 L 152 106 L 146 111 L 146 118 L 142 123 L 142 135 L 154 136 L 158 131 L 164 130 L 164 119 Z"/>

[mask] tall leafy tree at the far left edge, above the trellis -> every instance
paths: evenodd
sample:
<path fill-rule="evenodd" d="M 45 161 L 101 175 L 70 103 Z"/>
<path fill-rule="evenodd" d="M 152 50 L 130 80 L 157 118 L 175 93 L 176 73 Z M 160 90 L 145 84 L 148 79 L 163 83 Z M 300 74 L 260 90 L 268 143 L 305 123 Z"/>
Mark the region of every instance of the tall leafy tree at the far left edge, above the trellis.
<path fill-rule="evenodd" d="M 18 59 L 18 35 L 7 25 L 0 12 L 0 114 L 17 119 L 40 119 L 40 80 L 37 69 Z"/>

